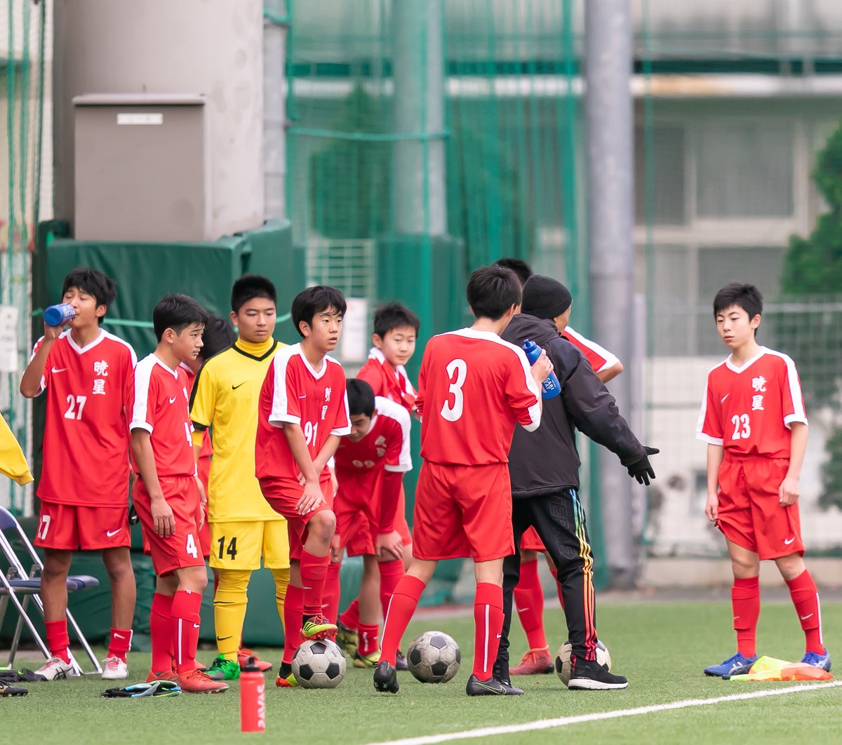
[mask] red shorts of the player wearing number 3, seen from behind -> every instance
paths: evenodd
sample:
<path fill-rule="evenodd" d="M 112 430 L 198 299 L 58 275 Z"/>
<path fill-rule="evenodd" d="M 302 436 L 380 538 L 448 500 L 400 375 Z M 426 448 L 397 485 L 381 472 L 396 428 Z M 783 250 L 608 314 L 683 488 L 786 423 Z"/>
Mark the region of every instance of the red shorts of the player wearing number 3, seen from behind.
<path fill-rule="evenodd" d="M 413 538 L 413 556 L 424 561 L 490 561 L 513 554 L 509 466 L 425 460 L 415 489 Z"/>

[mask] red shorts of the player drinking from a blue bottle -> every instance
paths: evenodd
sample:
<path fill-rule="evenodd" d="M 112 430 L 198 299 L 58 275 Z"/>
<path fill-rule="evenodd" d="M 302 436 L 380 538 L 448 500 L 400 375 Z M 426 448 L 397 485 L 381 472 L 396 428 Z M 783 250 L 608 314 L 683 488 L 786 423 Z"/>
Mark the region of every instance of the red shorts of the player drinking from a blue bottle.
<path fill-rule="evenodd" d="M 56 551 L 130 546 L 129 508 L 41 502 L 35 545 Z"/>

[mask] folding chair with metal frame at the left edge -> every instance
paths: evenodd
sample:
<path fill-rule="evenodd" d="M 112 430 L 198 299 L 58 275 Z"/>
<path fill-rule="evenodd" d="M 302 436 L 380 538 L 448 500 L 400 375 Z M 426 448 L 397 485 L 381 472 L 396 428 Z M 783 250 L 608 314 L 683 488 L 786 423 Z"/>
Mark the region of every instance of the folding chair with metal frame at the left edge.
<path fill-rule="evenodd" d="M 8 539 L 5 531 L 14 531 L 14 540 L 19 540 L 26 551 L 29 553 L 29 560 L 32 561 L 32 568 L 27 572 L 24 564 L 20 561 L 18 555 L 15 553 L 12 542 Z M 41 638 L 38 631 L 35 629 L 35 624 L 29 618 L 27 608 L 29 607 L 29 599 L 31 598 L 35 606 L 39 609 L 41 617 L 44 616 L 44 604 L 40 598 L 41 578 L 40 573 L 44 570 L 44 564 L 41 563 L 40 557 L 35 553 L 35 548 L 29 542 L 24 530 L 14 515 L 8 509 L 0 507 L 0 552 L 8 561 L 8 574 L 0 572 L 0 626 L 3 626 L 3 619 L 6 616 L 6 609 L 8 602 L 11 600 L 15 609 L 18 610 L 19 618 L 18 624 L 15 626 L 14 636 L 12 638 L 12 646 L 8 653 L 9 666 L 13 665 L 14 657 L 18 652 L 20 643 L 20 635 L 23 632 L 24 624 L 29 629 L 35 639 L 35 643 L 40 647 L 44 657 L 49 659 L 51 657 L 50 650 L 47 649 L 44 640 Z M 99 580 L 96 577 L 90 577 L 87 574 L 77 574 L 67 577 L 67 591 L 75 592 L 86 588 L 95 588 L 99 586 Z M 76 619 L 73 618 L 70 610 L 67 610 L 67 622 L 70 624 L 72 630 L 76 633 L 77 639 L 84 647 L 85 652 L 93 663 L 93 673 L 102 673 L 102 668 L 99 666 L 99 660 L 93 654 L 93 650 L 88 644 L 88 640 L 79 628 Z M 73 668 L 74 675 L 82 675 L 83 669 L 77 663 L 76 658 L 70 656 L 70 663 Z"/>

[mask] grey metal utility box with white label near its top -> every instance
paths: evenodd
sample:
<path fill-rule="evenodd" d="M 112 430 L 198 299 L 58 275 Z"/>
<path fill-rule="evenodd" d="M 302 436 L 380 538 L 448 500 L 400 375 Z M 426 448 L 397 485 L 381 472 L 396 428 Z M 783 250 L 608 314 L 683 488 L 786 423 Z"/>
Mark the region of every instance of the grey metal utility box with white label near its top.
<path fill-rule="evenodd" d="M 83 95 L 73 109 L 77 240 L 211 238 L 204 98 Z"/>

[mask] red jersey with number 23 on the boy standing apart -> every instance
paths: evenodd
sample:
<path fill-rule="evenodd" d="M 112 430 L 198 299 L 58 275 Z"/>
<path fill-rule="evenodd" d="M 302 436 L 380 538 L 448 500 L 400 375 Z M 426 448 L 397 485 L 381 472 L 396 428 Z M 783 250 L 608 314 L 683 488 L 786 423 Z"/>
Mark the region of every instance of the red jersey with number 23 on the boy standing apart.
<path fill-rule="evenodd" d="M 696 435 L 733 455 L 789 458 L 793 422 L 807 423 L 795 363 L 760 347 L 741 367 L 725 359 L 707 375 Z"/>

